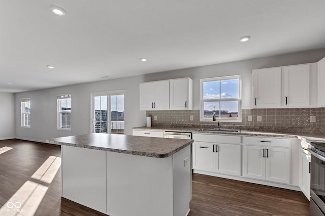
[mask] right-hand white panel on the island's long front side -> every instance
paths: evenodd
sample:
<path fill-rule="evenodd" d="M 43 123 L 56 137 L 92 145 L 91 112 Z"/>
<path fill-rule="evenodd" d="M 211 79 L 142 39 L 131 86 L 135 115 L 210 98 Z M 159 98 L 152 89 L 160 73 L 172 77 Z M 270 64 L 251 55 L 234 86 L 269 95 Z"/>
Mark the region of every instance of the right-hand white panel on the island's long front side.
<path fill-rule="evenodd" d="M 173 160 L 107 152 L 107 213 L 173 215 Z"/>

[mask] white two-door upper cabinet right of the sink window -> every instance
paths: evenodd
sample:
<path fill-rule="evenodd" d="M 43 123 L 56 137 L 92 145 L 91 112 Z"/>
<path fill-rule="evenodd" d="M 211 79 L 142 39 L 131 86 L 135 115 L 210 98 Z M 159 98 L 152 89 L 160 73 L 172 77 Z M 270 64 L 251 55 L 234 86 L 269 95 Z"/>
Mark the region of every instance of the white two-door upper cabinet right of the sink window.
<path fill-rule="evenodd" d="M 310 67 L 302 64 L 253 70 L 252 108 L 310 107 Z"/>

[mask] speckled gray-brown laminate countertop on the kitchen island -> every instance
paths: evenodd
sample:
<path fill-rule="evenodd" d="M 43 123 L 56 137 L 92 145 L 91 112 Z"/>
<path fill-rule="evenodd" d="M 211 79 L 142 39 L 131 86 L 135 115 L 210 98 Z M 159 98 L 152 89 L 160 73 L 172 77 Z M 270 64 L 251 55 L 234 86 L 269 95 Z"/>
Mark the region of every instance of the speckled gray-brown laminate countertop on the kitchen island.
<path fill-rule="evenodd" d="M 46 140 L 50 144 L 158 158 L 169 157 L 192 142 L 193 140 L 98 133 Z"/>

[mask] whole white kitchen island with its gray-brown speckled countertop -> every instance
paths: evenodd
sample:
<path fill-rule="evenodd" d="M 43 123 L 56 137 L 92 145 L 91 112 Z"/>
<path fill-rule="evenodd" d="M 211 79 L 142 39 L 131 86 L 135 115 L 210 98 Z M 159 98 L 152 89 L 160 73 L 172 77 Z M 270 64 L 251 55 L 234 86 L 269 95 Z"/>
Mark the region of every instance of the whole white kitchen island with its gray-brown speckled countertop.
<path fill-rule="evenodd" d="M 115 216 L 187 215 L 192 140 L 87 134 L 61 145 L 62 197 Z"/>

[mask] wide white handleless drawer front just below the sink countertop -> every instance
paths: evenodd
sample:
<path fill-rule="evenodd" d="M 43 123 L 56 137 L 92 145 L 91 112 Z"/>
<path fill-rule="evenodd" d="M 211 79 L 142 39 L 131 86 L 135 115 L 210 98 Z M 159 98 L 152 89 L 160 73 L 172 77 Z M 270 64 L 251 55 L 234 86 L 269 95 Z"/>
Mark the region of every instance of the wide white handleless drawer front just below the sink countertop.
<path fill-rule="evenodd" d="M 240 144 L 240 136 L 233 135 L 193 134 L 192 139 L 200 142 Z"/>

